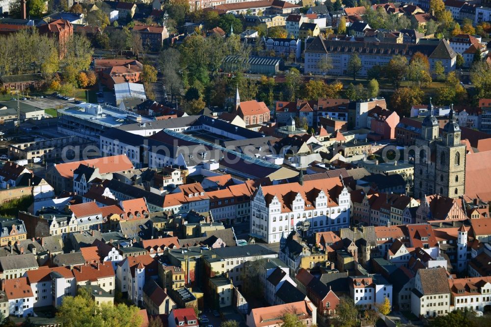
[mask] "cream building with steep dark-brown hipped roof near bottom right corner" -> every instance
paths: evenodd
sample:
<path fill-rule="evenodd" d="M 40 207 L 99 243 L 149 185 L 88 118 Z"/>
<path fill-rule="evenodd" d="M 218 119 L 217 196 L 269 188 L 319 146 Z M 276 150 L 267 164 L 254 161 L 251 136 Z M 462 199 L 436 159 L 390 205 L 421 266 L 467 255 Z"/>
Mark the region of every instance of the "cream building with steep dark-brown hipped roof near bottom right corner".
<path fill-rule="evenodd" d="M 411 292 L 411 311 L 425 318 L 446 315 L 450 310 L 450 294 L 444 268 L 419 269 Z"/>

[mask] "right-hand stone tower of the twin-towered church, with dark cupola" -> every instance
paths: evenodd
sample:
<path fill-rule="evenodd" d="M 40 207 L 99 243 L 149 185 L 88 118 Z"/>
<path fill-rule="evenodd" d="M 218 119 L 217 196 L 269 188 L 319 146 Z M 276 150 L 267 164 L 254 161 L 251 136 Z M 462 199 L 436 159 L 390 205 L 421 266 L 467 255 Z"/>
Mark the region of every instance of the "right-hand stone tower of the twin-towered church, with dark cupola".
<path fill-rule="evenodd" d="M 441 142 L 436 144 L 435 191 L 458 198 L 465 192 L 465 145 L 461 143 L 461 129 L 455 121 L 453 106 L 448 119 Z"/>

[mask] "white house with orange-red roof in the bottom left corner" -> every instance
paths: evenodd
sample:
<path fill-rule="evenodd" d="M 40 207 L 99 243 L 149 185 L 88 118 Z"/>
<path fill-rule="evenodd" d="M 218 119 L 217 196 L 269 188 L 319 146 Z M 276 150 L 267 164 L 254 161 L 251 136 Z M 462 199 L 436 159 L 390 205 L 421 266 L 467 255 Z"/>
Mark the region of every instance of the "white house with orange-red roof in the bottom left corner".
<path fill-rule="evenodd" d="M 8 299 L 9 314 L 16 317 L 28 317 L 34 314 L 34 293 L 26 277 L 2 281 L 2 288 Z"/>

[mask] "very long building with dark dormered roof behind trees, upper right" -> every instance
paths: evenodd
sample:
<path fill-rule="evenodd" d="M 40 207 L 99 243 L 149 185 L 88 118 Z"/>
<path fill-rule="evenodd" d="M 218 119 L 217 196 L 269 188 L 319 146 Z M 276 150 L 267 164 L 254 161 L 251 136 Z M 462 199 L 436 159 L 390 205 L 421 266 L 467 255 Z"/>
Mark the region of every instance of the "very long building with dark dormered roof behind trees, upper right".
<path fill-rule="evenodd" d="M 288 23 L 288 21 L 287 21 Z M 421 47 L 413 44 L 378 43 L 378 42 L 353 42 L 345 40 L 324 39 L 321 35 L 311 41 L 305 49 L 305 74 L 323 74 L 325 69 L 319 65 L 321 60 L 328 60 L 332 68 L 327 71 L 329 75 L 347 75 L 347 65 L 353 52 L 359 54 L 362 69 L 359 76 L 366 76 L 373 66 L 387 64 L 395 54 L 404 55 L 408 59 L 416 52 L 426 54 L 433 71 L 436 62 L 441 62 L 445 73 L 455 70 L 455 58 L 457 54 L 452 50 L 448 42 L 443 39 L 436 45 Z"/>

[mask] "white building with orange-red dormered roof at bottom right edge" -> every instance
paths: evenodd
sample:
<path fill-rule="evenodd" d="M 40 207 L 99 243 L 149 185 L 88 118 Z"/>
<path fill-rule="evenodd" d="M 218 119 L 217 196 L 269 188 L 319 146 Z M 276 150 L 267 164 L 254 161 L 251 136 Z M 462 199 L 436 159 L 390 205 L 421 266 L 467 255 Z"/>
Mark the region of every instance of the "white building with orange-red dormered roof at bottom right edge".
<path fill-rule="evenodd" d="M 448 283 L 456 310 L 484 311 L 491 305 L 491 277 L 449 278 Z"/>

